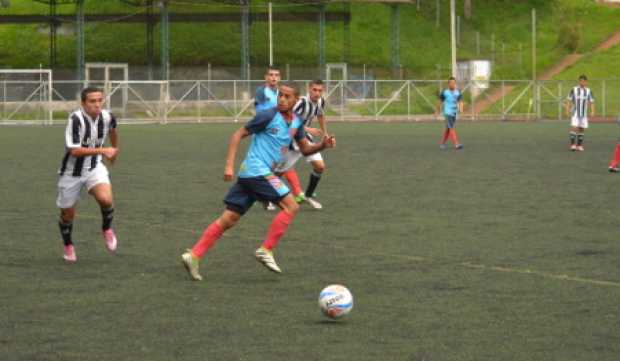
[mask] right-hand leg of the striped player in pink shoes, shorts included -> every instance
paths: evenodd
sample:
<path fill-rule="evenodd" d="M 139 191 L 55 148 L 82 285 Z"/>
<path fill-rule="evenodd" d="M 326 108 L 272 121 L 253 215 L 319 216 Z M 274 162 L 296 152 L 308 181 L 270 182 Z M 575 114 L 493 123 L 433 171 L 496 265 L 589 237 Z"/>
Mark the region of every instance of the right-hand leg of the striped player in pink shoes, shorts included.
<path fill-rule="evenodd" d="M 116 234 L 112 229 L 112 221 L 114 220 L 114 199 L 112 196 L 112 184 L 108 170 L 102 164 L 97 168 L 88 172 L 86 177 L 86 187 L 101 210 L 101 234 L 109 251 L 114 252 L 118 244 Z"/>

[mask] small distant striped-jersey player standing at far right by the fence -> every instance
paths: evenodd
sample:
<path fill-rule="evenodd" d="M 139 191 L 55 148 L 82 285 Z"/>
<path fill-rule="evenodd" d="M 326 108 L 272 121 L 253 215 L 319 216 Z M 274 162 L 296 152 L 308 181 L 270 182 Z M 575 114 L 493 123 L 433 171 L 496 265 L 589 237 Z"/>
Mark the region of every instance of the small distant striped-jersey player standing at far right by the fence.
<path fill-rule="evenodd" d="M 584 151 L 583 139 L 588 128 L 588 113 L 594 116 L 594 96 L 588 88 L 588 77 L 581 75 L 579 85 L 571 89 L 566 99 L 566 113 L 571 117 L 570 150 Z"/>

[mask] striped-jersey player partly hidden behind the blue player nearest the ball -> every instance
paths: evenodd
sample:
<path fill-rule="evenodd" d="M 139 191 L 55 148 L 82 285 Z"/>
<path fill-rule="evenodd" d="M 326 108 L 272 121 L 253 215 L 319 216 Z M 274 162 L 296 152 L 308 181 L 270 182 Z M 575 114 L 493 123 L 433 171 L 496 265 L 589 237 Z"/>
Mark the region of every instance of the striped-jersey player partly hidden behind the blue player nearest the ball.
<path fill-rule="evenodd" d="M 293 108 L 295 114 L 303 120 L 306 137 L 311 143 L 314 143 L 314 137 L 322 138 L 327 135 L 323 91 L 324 84 L 322 80 L 312 81 L 308 85 L 308 95 L 300 97 Z M 312 127 L 312 121 L 314 119 L 318 119 L 320 129 Z M 312 172 L 310 173 L 308 186 L 304 194 L 301 190 L 299 176 L 295 171 L 295 163 L 297 163 L 302 156 L 299 148 L 294 143 L 292 151 L 286 154 L 283 163 L 276 169 L 276 172 L 282 174 L 291 185 L 293 195 L 298 203 L 306 201 L 314 209 L 322 209 L 323 205 L 319 203 L 314 193 L 325 171 L 325 162 L 323 161 L 321 153 L 315 153 L 305 157 L 306 161 L 312 165 Z"/>

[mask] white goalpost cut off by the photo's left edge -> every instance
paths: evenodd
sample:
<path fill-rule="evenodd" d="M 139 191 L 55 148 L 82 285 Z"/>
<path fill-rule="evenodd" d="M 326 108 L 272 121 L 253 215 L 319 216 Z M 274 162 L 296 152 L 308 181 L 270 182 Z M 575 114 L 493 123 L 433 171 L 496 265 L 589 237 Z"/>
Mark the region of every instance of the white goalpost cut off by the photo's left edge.
<path fill-rule="evenodd" d="M 0 69 L 0 123 L 53 123 L 52 71 Z"/>

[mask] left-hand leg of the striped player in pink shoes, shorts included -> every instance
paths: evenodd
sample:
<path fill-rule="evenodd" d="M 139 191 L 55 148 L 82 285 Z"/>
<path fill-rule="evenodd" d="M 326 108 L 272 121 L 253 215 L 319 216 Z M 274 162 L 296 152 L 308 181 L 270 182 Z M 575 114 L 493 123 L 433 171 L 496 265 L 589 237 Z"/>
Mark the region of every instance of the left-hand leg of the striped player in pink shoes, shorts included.
<path fill-rule="evenodd" d="M 82 181 L 79 177 L 61 176 L 58 180 L 58 197 L 56 198 L 56 206 L 60 209 L 58 228 L 64 245 L 63 258 L 67 262 L 77 261 L 72 233 L 75 205 L 80 198 L 81 189 Z"/>

